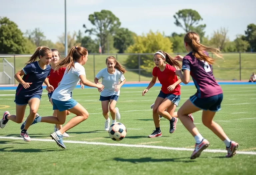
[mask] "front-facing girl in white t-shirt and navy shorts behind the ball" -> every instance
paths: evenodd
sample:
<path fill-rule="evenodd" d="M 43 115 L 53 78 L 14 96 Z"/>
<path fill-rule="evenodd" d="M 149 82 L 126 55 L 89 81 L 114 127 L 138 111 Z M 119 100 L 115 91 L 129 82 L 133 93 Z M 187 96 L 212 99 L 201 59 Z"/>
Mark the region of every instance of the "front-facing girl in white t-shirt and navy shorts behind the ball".
<path fill-rule="evenodd" d="M 107 67 L 99 71 L 96 75 L 94 82 L 99 84 L 99 79 L 102 79 L 101 84 L 104 85 L 103 90 L 100 88 L 98 90 L 100 92 L 102 114 L 106 119 L 105 131 L 108 131 L 110 123 L 108 111 L 110 111 L 112 123 L 120 120 L 121 117 L 119 109 L 116 108 L 116 103 L 120 95 L 120 88 L 125 83 L 124 73 L 126 70 L 113 56 L 107 57 L 106 65 Z M 121 80 L 120 84 L 119 79 Z"/>

